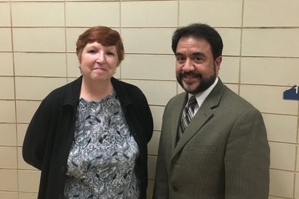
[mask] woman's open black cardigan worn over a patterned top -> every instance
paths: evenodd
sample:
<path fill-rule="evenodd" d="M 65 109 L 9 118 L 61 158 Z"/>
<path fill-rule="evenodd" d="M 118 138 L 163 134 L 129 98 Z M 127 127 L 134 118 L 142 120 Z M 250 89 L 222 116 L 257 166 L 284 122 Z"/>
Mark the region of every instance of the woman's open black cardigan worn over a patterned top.
<path fill-rule="evenodd" d="M 138 144 L 140 155 L 136 174 L 140 175 L 141 199 L 148 186 L 148 149 L 153 122 L 149 104 L 134 85 L 111 78 L 121 102 L 126 121 Z M 38 199 L 62 199 L 67 159 L 74 138 L 76 109 L 82 76 L 52 91 L 42 100 L 28 126 L 22 154 L 24 160 L 41 170 Z"/>

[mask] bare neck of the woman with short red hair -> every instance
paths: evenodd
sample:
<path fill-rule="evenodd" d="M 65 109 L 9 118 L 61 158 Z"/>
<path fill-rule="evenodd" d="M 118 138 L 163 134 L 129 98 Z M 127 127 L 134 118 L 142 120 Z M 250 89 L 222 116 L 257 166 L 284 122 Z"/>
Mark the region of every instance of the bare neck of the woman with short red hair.
<path fill-rule="evenodd" d="M 106 82 L 87 81 L 82 79 L 80 97 L 85 100 L 99 101 L 112 92 L 111 80 Z"/>

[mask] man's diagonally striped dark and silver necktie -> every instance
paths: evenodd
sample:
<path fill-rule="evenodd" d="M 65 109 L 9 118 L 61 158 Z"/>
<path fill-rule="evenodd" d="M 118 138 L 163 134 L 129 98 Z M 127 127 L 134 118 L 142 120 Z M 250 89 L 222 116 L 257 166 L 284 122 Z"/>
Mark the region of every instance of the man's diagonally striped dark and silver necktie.
<path fill-rule="evenodd" d="M 177 141 L 181 138 L 183 132 L 185 131 L 187 125 L 191 121 L 193 115 L 194 115 L 194 106 L 196 104 L 196 98 L 195 96 L 191 96 L 191 98 L 188 101 L 187 106 L 183 109 L 182 116 L 180 119 L 180 124 L 178 127 L 178 136 Z"/>

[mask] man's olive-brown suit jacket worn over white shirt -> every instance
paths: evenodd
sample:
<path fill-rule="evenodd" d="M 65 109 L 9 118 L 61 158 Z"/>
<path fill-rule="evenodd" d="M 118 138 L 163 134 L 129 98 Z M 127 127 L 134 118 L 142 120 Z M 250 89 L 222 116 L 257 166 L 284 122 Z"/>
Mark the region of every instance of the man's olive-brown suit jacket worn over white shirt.
<path fill-rule="evenodd" d="M 268 199 L 261 113 L 219 79 L 176 144 L 186 101 L 182 93 L 165 107 L 153 199 Z"/>

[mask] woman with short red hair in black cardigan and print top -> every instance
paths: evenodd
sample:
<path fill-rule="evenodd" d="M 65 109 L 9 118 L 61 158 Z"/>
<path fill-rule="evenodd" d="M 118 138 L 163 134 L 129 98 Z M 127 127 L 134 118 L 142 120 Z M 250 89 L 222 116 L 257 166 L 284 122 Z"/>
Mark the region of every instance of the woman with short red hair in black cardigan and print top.
<path fill-rule="evenodd" d="M 140 89 L 112 77 L 121 37 L 91 27 L 76 53 L 82 76 L 42 100 L 24 138 L 24 160 L 41 170 L 38 199 L 146 199 L 152 116 Z"/>

